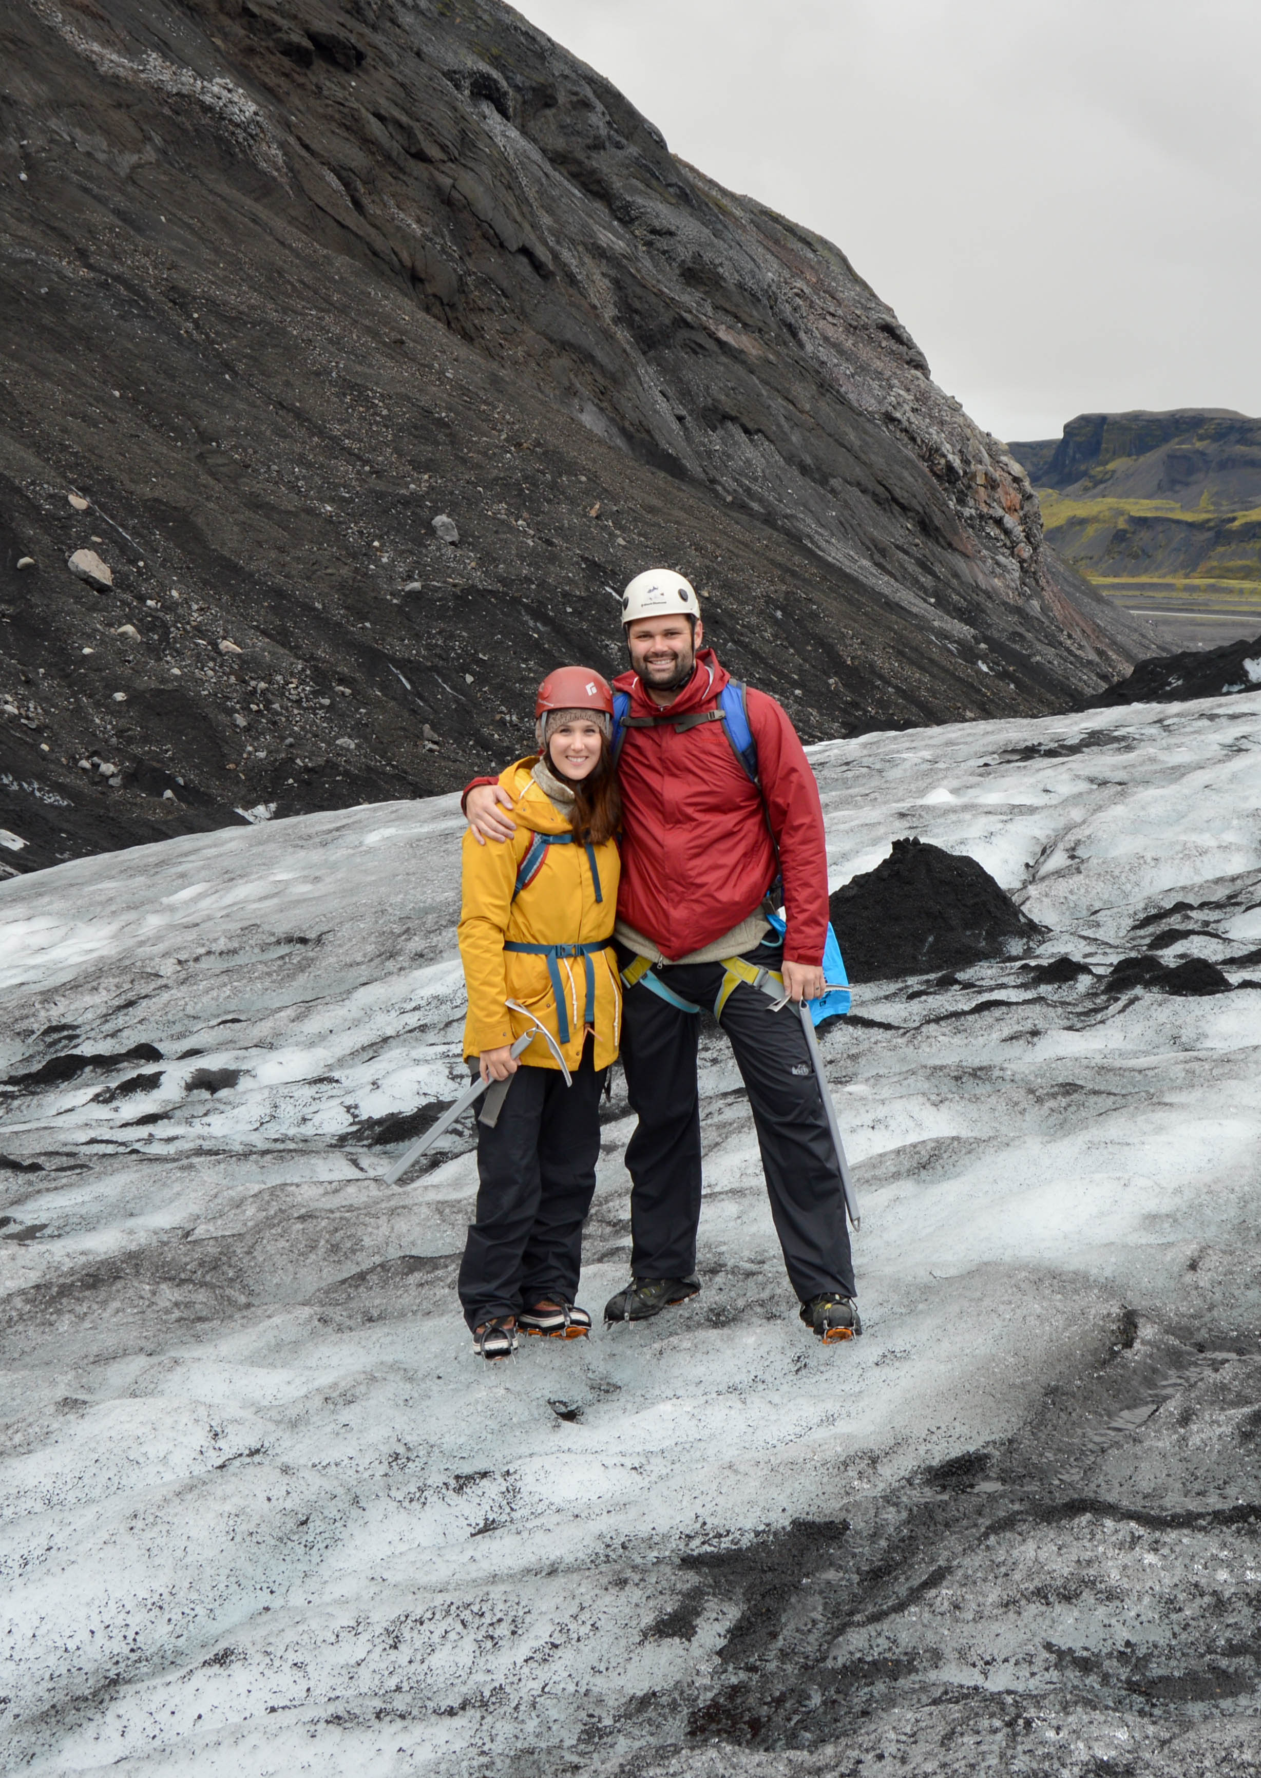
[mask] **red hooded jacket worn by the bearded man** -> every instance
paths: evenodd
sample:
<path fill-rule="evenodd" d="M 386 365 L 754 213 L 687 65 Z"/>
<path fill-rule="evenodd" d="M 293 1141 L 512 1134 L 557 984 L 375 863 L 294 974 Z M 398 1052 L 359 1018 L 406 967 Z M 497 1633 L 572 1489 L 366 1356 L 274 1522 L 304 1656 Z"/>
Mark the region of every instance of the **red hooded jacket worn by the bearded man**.
<path fill-rule="evenodd" d="M 823 811 L 788 713 L 774 697 L 749 688 L 761 797 L 736 759 L 724 724 L 706 722 L 679 734 L 669 720 L 711 709 L 729 677 L 713 649 L 699 649 L 695 672 L 669 713 L 649 699 L 639 674 L 624 672 L 614 681 L 619 692 L 630 693 L 631 717 L 667 717 L 651 729 L 622 734 L 617 914 L 663 957 L 687 957 L 747 919 L 779 869 L 788 917 L 784 958 L 820 964 L 827 937 Z M 494 784 L 496 779 L 473 782 Z"/>

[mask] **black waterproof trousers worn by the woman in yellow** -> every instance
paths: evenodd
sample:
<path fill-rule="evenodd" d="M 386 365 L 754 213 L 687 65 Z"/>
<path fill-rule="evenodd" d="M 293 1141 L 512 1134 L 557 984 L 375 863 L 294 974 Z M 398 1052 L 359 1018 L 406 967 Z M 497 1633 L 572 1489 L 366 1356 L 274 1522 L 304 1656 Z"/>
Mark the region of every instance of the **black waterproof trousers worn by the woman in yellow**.
<path fill-rule="evenodd" d="M 592 1065 L 587 1038 L 573 1086 L 558 1069 L 518 1069 L 494 1129 L 478 1120 L 477 1220 L 459 1268 L 470 1328 L 546 1298 L 576 1298 L 606 1074 Z"/>

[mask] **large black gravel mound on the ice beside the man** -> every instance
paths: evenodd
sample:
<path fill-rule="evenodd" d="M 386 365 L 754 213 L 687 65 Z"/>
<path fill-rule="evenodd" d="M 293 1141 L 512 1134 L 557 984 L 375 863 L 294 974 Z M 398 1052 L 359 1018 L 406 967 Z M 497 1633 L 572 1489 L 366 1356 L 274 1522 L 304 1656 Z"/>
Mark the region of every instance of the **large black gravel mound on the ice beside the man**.
<path fill-rule="evenodd" d="M 895 839 L 873 871 L 829 901 L 850 981 L 921 976 L 1007 957 L 1042 928 L 976 859 Z"/>

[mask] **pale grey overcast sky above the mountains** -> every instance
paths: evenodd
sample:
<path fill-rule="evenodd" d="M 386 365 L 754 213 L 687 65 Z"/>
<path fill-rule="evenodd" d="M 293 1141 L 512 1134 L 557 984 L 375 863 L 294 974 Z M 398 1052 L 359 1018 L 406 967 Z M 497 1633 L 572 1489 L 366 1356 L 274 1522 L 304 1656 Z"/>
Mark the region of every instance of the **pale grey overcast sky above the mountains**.
<path fill-rule="evenodd" d="M 991 432 L 1261 414 L 1261 0 L 519 0 Z"/>

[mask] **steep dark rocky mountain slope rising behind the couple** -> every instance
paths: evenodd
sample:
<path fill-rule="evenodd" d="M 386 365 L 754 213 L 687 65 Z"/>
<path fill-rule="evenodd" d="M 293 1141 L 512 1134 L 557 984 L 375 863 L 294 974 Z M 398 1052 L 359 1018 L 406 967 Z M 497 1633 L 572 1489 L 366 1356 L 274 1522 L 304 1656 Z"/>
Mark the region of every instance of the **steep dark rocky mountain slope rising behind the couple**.
<path fill-rule="evenodd" d="M 0 44 L 0 869 L 450 789 L 653 562 L 807 738 L 1151 653 L 845 256 L 509 7 L 12 0 Z"/>

